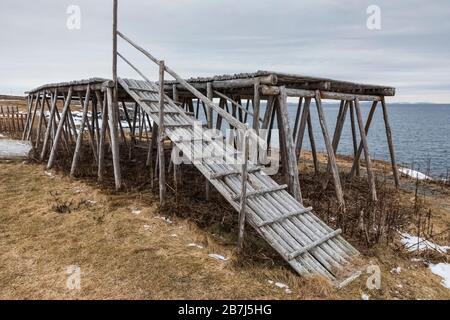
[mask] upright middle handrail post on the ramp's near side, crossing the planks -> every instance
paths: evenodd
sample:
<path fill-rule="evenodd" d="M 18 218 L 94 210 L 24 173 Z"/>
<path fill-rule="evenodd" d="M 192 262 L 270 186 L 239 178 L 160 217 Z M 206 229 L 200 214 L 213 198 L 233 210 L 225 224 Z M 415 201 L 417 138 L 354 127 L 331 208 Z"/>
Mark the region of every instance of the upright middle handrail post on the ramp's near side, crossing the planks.
<path fill-rule="evenodd" d="M 158 154 L 159 154 L 159 200 L 161 207 L 166 202 L 166 170 L 164 160 L 164 72 L 166 67 L 164 61 L 159 62 L 159 138 L 158 138 Z"/>

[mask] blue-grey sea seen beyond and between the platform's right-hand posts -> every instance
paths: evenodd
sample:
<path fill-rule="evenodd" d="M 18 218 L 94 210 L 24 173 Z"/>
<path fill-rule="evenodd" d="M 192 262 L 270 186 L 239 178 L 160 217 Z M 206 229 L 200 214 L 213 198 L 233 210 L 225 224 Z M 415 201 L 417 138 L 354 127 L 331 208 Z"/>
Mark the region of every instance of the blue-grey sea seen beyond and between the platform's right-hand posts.
<path fill-rule="evenodd" d="M 370 106 L 370 103 L 361 105 L 364 122 Z M 388 102 L 387 106 L 397 163 L 428 173 L 434 177 L 447 177 L 448 170 L 450 170 L 450 105 L 396 104 Z M 295 121 L 296 108 L 296 103 L 289 103 L 289 114 L 292 124 Z M 325 152 L 323 135 L 314 103 L 311 103 L 311 110 L 316 147 L 319 151 Z M 324 111 L 330 135 L 332 136 L 339 112 L 339 103 L 324 104 Z M 370 127 L 368 141 L 370 154 L 374 159 L 390 159 L 380 104 Z M 310 150 L 307 135 L 305 136 L 304 146 L 307 150 Z M 349 113 L 347 114 L 338 154 L 353 154 Z"/>

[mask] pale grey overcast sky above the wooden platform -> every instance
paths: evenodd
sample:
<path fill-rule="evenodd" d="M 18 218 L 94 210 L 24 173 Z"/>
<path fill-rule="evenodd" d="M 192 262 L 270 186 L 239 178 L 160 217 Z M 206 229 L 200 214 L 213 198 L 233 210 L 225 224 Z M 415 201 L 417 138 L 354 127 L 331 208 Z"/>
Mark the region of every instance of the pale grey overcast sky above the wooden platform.
<path fill-rule="evenodd" d="M 122 0 L 119 29 L 184 77 L 276 70 L 397 88 L 450 103 L 448 0 Z M 369 5 L 381 30 L 367 28 Z M 67 28 L 67 8 L 81 29 Z M 111 77 L 112 0 L 1 0 L 0 93 Z M 119 51 L 156 79 L 123 42 Z M 119 76 L 138 76 L 123 63 Z"/>

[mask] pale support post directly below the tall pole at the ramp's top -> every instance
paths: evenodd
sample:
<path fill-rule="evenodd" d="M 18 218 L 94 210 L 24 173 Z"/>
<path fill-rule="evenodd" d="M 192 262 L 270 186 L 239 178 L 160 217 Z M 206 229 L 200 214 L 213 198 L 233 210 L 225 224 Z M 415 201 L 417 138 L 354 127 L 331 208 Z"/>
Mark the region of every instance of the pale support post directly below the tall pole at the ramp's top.
<path fill-rule="evenodd" d="M 108 124 L 109 133 L 111 139 L 111 151 L 113 156 L 113 167 L 114 167 L 114 180 L 116 184 L 116 190 L 120 190 L 122 187 L 122 175 L 120 170 L 120 148 L 119 148 L 119 133 L 117 130 L 117 109 L 119 107 L 117 99 L 114 98 L 113 88 L 106 88 L 107 98 L 108 98 Z"/>

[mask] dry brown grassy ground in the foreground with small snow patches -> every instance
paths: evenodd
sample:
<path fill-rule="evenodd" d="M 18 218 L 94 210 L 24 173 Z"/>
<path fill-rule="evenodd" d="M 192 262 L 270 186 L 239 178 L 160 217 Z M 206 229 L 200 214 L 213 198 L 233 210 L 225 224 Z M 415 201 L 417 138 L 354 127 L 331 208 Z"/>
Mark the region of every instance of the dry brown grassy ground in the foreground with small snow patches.
<path fill-rule="evenodd" d="M 192 192 L 204 185 L 200 176 L 186 180 L 161 213 L 156 189 L 147 185 L 116 193 L 108 187 L 112 181 L 98 185 L 46 172 L 38 163 L 0 162 L 0 298 L 450 299 L 424 262 L 448 255 L 407 253 L 398 239 L 370 248 L 349 239 L 367 265 L 380 267 L 380 290 L 367 288 L 365 272 L 341 290 L 299 277 L 251 230 L 238 254 L 233 211 L 216 193 L 206 202 L 202 192 Z M 439 234 L 450 226 L 450 192 L 426 188 Z M 414 192 L 404 190 L 402 197 L 412 201 Z M 434 240 L 448 245 L 450 239 L 444 232 Z M 79 290 L 67 286 L 70 266 L 80 268 Z"/>

